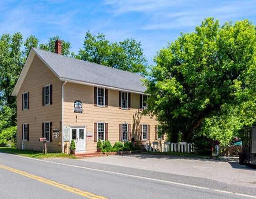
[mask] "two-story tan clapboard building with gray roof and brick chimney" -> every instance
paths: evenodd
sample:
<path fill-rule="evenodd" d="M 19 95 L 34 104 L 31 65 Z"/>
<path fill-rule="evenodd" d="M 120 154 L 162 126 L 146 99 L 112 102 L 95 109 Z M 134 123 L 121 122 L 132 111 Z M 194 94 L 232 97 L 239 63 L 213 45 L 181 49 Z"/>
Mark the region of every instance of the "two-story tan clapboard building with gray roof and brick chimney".
<path fill-rule="evenodd" d="M 17 96 L 17 148 L 48 152 L 96 151 L 97 140 L 155 141 L 158 122 L 147 108 L 143 77 L 107 66 L 31 48 L 12 92 Z"/>

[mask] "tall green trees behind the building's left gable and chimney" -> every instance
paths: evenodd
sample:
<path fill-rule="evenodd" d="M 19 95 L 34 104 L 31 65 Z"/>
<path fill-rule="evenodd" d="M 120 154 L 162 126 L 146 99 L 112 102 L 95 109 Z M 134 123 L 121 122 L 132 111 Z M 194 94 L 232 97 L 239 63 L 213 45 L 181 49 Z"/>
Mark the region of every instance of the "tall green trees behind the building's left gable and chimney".
<path fill-rule="evenodd" d="M 16 98 L 11 96 L 11 93 L 30 48 L 39 46 L 52 52 L 53 46 L 55 47 L 54 39 L 59 39 L 59 36 L 51 37 L 48 44 L 39 45 L 38 38 L 31 35 L 24 41 L 20 32 L 12 36 L 10 34 L 0 36 L 0 131 L 16 125 Z M 70 43 L 63 40 L 62 44 L 63 54 L 69 54 Z"/>

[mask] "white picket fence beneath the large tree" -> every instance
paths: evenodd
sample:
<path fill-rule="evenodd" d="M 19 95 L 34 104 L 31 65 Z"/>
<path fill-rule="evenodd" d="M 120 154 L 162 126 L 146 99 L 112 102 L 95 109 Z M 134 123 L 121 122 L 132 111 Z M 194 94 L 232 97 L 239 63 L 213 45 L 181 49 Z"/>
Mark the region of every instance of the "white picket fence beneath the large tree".
<path fill-rule="evenodd" d="M 146 150 L 152 152 L 180 152 L 180 153 L 193 153 L 195 147 L 193 144 L 185 143 L 164 143 L 158 142 L 146 143 Z"/>

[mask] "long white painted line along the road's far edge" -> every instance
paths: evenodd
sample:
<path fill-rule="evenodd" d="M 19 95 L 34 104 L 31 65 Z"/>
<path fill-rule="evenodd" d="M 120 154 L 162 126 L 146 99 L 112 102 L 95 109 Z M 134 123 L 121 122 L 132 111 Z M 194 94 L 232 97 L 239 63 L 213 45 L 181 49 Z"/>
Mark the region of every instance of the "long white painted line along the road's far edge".
<path fill-rule="evenodd" d="M 76 165 L 72 165 L 72 164 L 55 163 L 55 162 L 51 162 L 51 161 L 47 161 L 47 160 L 35 159 L 35 158 L 30 158 L 30 157 L 15 155 L 15 154 L 8 154 L 8 155 L 18 156 L 18 157 L 27 158 L 27 159 L 31 159 L 31 160 L 37 160 L 37 161 L 46 162 L 46 163 L 54 163 L 54 164 L 60 164 L 60 165 L 65 165 L 65 166 L 71 166 L 71 167 L 76 167 L 76 168 L 80 168 L 80 169 L 87 169 L 87 170 L 98 171 L 98 172 L 113 173 L 113 174 L 117 174 L 117 175 L 129 176 L 129 177 L 140 178 L 140 179 L 145 179 L 145 180 L 150 180 L 150 181 L 159 181 L 159 182 L 165 182 L 165 183 L 169 183 L 169 184 L 176 184 L 176 185 L 181 185 L 181 186 L 186 186 L 186 187 L 193 187 L 193 188 L 198 188 L 198 189 L 203 189 L 203 190 L 212 190 L 212 191 L 217 191 L 217 192 L 222 192 L 222 193 L 227 193 L 227 194 L 235 194 L 235 195 L 239 195 L 239 196 L 245 196 L 245 197 L 256 199 L 256 196 L 246 195 L 246 194 L 242 194 L 242 193 L 236 193 L 236 192 L 230 192 L 230 191 L 224 191 L 224 190 L 216 190 L 216 189 L 211 189 L 211 188 L 207 188 L 207 187 L 189 185 L 189 184 L 173 182 L 173 181 L 164 181 L 164 180 L 159 180 L 159 179 L 155 179 L 155 178 L 148 178 L 148 177 L 130 175 L 130 174 L 125 174 L 125 173 L 110 172 L 110 171 L 106 171 L 106 170 L 93 169 L 93 168 L 89 168 L 89 167 L 76 166 Z"/>

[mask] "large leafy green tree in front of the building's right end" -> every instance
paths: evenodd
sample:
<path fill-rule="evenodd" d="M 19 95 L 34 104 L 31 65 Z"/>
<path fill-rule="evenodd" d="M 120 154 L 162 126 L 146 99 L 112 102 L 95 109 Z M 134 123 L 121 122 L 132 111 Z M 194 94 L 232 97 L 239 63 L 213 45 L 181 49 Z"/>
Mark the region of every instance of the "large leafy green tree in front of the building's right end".
<path fill-rule="evenodd" d="M 223 107 L 239 108 L 247 116 L 244 123 L 255 120 L 256 27 L 247 19 L 220 26 L 206 18 L 195 32 L 181 33 L 161 49 L 154 61 L 145 81 L 151 94 L 147 113 L 157 117 L 172 141 L 180 133 L 187 141 Z"/>

